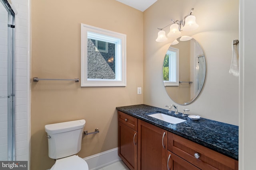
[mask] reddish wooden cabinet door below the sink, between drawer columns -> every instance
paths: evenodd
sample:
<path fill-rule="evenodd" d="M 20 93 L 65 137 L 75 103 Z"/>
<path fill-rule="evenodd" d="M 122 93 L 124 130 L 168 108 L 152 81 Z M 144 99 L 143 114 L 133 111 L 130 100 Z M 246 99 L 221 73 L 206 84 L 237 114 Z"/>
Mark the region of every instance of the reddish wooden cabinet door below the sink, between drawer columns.
<path fill-rule="evenodd" d="M 138 170 L 167 169 L 167 131 L 138 120 Z"/>

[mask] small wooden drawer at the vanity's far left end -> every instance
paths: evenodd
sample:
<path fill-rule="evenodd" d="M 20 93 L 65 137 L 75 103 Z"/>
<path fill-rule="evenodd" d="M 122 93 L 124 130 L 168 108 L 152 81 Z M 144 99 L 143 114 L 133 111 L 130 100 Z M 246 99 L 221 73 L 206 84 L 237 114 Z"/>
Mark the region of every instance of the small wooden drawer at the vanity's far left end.
<path fill-rule="evenodd" d="M 137 118 L 132 117 L 122 111 L 118 111 L 118 121 L 124 123 L 124 125 L 130 127 L 134 131 L 138 129 L 138 121 Z"/>

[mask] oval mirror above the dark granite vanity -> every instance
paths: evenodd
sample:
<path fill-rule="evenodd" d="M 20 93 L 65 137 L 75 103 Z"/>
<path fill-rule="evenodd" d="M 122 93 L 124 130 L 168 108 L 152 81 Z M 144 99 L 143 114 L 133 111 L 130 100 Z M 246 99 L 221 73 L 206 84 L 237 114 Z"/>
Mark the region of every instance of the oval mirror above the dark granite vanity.
<path fill-rule="evenodd" d="M 170 45 L 163 64 L 164 86 L 177 104 L 187 105 L 200 94 L 206 75 L 202 47 L 192 37 L 182 36 Z"/>

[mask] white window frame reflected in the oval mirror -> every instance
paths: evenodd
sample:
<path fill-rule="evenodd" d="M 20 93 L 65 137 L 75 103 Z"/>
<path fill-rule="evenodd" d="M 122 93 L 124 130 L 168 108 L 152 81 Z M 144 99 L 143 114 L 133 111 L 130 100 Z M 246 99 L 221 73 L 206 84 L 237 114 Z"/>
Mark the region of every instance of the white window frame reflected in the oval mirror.
<path fill-rule="evenodd" d="M 170 47 L 166 54 L 170 56 L 169 81 L 164 80 L 164 86 L 179 86 L 179 49 Z"/>

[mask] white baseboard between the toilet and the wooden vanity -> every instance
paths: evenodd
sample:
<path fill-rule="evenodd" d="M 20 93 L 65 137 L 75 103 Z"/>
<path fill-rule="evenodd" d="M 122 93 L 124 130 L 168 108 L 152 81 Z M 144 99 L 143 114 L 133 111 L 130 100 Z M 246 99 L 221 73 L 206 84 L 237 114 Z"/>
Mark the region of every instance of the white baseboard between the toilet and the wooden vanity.
<path fill-rule="evenodd" d="M 89 170 L 97 170 L 121 160 L 118 156 L 118 148 L 100 152 L 84 158 L 89 166 Z"/>

